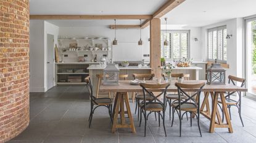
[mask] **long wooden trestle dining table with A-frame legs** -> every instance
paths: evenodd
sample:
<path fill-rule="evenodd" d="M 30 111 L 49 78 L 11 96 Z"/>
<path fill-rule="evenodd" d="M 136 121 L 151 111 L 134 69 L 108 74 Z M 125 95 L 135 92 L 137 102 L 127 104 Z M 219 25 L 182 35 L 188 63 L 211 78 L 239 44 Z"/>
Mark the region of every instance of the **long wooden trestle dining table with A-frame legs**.
<path fill-rule="evenodd" d="M 168 87 L 168 92 L 177 92 L 177 87 L 175 87 L 175 80 L 172 80 L 170 86 Z M 183 83 L 196 84 L 206 82 L 205 80 L 184 80 Z M 146 81 L 146 83 L 156 83 L 154 80 Z M 117 93 L 114 102 L 114 123 L 112 126 L 112 133 L 115 133 L 117 128 L 131 128 L 133 133 L 136 133 L 133 117 L 131 115 L 128 92 L 141 92 L 142 88 L 139 85 L 131 85 L 130 81 L 119 80 L 119 85 L 101 85 L 100 91 L 115 92 Z M 162 89 L 151 90 L 152 92 L 159 92 Z M 192 89 L 186 89 L 184 91 L 194 91 Z M 232 91 L 247 91 L 246 88 L 238 87 L 236 85 L 231 85 L 226 83 L 226 85 L 208 85 L 205 83 L 204 88 L 200 96 L 204 96 L 202 104 L 200 106 L 200 114 L 210 120 L 209 132 L 213 133 L 215 128 L 228 128 L 229 133 L 233 133 L 233 128 L 231 125 L 231 120 L 229 118 L 228 108 L 225 101 L 225 93 Z M 210 95 L 210 96 L 209 96 Z M 210 108 L 210 100 L 212 98 L 212 109 Z M 220 111 L 217 108 L 218 99 L 221 100 L 223 107 L 223 113 L 225 115 L 226 123 L 222 122 Z M 126 111 L 124 108 L 126 106 Z M 125 123 L 125 113 L 128 114 L 130 123 Z M 118 123 L 118 114 L 120 114 L 121 123 Z M 217 117 L 217 120 L 216 120 Z"/>

